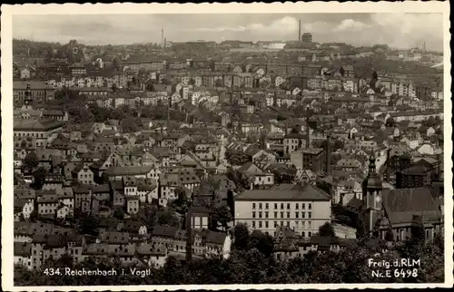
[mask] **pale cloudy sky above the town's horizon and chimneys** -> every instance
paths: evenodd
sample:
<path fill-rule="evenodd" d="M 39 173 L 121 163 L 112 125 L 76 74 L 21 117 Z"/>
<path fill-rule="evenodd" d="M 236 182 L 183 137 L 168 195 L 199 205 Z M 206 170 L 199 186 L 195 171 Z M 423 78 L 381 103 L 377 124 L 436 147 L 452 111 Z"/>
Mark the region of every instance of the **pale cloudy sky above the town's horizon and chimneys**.
<path fill-rule="evenodd" d="M 224 15 L 15 15 L 13 35 L 39 41 L 83 44 L 160 43 L 168 41 L 288 41 L 301 33 L 314 42 L 354 45 L 389 44 L 410 48 L 426 42 L 442 51 L 440 14 L 224 14 Z"/>

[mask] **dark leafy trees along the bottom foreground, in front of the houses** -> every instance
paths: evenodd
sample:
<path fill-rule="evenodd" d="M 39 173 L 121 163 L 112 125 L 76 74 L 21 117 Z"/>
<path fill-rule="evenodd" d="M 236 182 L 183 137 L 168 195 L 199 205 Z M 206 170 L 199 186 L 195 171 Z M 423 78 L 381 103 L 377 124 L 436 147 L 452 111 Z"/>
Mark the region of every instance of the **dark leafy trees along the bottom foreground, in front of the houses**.
<path fill-rule="evenodd" d="M 320 232 L 331 234 L 325 226 Z M 16 286 L 81 286 L 81 285 L 179 285 L 179 284 L 299 284 L 299 283 L 441 283 L 444 281 L 443 238 L 427 242 L 424 232 L 412 231 L 412 238 L 391 246 L 370 237 L 339 251 L 310 251 L 303 257 L 276 260 L 273 239 L 261 231 L 252 233 L 242 224 L 235 226 L 231 256 L 194 258 L 184 262 L 173 256 L 163 268 L 152 268 L 152 275 L 136 277 L 128 273 L 117 277 L 50 277 L 43 276 L 45 268 L 121 269 L 118 259 L 101 261 L 85 258 L 74 263 L 64 256 L 49 259 L 40 270 L 15 266 Z M 418 236 L 419 234 L 419 236 Z M 415 277 L 373 277 L 368 261 L 394 261 L 400 258 L 420 259 Z M 393 272 L 393 271 L 392 271 Z"/>

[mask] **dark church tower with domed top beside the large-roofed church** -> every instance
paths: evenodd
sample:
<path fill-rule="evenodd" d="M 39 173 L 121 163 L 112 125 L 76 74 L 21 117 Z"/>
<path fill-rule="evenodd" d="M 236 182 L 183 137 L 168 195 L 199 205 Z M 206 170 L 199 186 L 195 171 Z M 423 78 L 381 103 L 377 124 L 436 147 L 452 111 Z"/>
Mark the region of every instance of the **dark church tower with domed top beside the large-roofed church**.
<path fill-rule="evenodd" d="M 375 167 L 375 154 L 372 152 L 369 160 L 369 173 L 362 182 L 362 204 L 360 220 L 365 233 L 370 233 L 375 222 L 380 217 L 381 190 L 383 183 Z"/>

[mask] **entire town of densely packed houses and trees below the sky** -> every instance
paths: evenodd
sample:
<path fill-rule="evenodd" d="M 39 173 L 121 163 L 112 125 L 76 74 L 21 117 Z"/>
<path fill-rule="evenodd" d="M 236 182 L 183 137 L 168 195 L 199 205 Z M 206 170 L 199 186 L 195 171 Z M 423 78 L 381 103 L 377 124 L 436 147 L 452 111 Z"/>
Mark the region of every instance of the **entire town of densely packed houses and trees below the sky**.
<path fill-rule="evenodd" d="M 15 285 L 442 282 L 425 46 L 14 40 Z"/>

